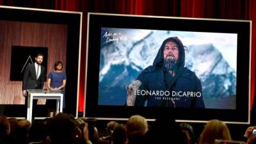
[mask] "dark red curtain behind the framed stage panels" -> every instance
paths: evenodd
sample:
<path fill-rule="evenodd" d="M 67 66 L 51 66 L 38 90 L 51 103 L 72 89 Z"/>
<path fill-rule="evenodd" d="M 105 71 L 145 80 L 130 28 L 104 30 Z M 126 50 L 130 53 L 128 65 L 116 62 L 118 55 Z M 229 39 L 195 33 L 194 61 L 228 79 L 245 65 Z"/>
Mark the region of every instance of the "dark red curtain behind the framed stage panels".
<path fill-rule="evenodd" d="M 212 19 L 252 20 L 252 89 L 251 104 L 255 94 L 256 1 L 254 0 L 0 0 L 6 6 L 45 8 L 83 12 L 81 65 L 79 79 L 79 111 L 83 111 L 86 67 L 87 13 L 120 13 L 134 15 L 159 15 L 171 17 L 196 17 Z M 252 105 L 251 105 L 252 108 Z"/>

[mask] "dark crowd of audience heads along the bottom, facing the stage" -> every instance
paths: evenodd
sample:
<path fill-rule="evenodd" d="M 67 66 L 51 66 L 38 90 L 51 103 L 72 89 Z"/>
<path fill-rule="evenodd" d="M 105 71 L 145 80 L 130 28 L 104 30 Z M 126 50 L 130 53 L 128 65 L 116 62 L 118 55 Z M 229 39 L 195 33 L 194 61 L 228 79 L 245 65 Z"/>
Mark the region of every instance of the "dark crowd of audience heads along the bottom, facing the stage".
<path fill-rule="evenodd" d="M 132 115 L 126 124 L 110 121 L 106 136 L 99 138 L 95 118 L 77 118 L 58 113 L 44 122 L 31 123 L 0 116 L 0 144 L 196 144 L 193 127 L 178 124 L 172 116 L 157 118 L 149 123 L 140 115 Z M 103 126 L 104 127 L 104 126 Z M 246 129 L 248 144 L 256 144 L 256 126 Z M 104 130 L 104 129 L 102 129 Z M 215 140 L 231 140 L 227 125 L 221 120 L 209 120 L 198 138 L 198 144 L 214 144 Z"/>

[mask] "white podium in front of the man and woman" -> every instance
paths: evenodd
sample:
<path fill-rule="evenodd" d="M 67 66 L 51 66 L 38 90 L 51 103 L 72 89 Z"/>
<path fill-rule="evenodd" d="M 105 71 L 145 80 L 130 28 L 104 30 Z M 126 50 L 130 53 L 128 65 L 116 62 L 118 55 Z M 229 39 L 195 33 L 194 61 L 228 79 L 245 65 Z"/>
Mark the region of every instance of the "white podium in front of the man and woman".
<path fill-rule="evenodd" d="M 27 120 L 32 122 L 33 99 L 54 99 L 56 100 L 56 113 L 62 112 L 63 109 L 63 90 L 27 90 L 28 107 Z"/>

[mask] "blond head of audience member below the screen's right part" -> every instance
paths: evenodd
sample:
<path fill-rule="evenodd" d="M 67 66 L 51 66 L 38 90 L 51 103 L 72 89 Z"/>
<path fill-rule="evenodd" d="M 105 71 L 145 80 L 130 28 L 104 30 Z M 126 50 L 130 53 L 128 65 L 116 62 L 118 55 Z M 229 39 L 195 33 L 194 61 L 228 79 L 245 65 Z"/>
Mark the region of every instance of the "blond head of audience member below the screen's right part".
<path fill-rule="evenodd" d="M 199 144 L 214 144 L 214 140 L 231 140 L 227 125 L 220 120 L 210 120 L 204 127 Z"/>

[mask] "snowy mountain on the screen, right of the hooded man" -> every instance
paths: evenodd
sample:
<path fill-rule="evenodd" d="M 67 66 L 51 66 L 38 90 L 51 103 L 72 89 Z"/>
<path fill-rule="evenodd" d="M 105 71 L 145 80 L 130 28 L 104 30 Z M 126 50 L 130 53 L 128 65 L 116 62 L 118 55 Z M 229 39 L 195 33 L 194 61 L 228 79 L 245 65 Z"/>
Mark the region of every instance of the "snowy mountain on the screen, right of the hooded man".
<path fill-rule="evenodd" d="M 205 106 L 236 108 L 236 72 L 221 53 L 212 44 L 190 45 L 188 51 L 186 67 L 201 81 Z"/>

